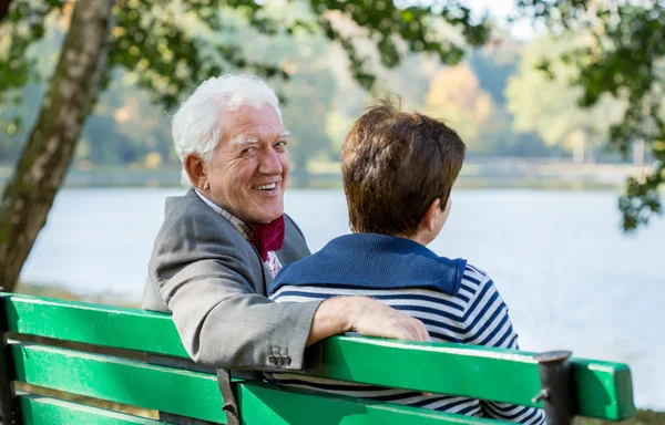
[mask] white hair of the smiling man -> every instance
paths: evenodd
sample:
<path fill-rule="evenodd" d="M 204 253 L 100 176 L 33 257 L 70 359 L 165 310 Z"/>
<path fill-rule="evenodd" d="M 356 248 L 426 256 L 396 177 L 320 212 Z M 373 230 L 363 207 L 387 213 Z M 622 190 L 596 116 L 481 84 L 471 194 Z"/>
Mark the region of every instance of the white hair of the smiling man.
<path fill-rule="evenodd" d="M 213 159 L 223 132 L 228 131 L 224 121 L 229 114 L 223 112 L 237 112 L 242 106 L 260 108 L 265 104 L 273 106 L 282 121 L 277 95 L 256 75 L 224 74 L 201 83 L 173 116 L 171 134 L 181 162 L 190 153 L 198 154 L 205 163 Z M 184 163 L 181 182 L 193 186 Z"/>

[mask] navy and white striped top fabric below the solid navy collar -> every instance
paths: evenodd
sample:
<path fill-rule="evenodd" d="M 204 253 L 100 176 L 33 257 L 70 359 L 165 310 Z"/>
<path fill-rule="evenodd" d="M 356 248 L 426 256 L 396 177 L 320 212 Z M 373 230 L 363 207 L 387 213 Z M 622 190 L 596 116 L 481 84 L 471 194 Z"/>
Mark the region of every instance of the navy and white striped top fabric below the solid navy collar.
<path fill-rule="evenodd" d="M 456 296 L 427 289 L 342 289 L 316 286 L 284 286 L 270 298 L 276 302 L 305 302 L 336 296 L 365 296 L 379 300 L 422 321 L 433 341 L 519 349 L 518 334 L 508 308 L 493 281 L 481 270 L 467 265 Z M 390 403 L 487 416 L 516 423 L 544 424 L 542 411 L 505 403 L 493 403 L 449 395 L 421 393 L 318 379 L 297 374 L 274 374 L 270 381 L 294 387 L 367 397 Z"/>

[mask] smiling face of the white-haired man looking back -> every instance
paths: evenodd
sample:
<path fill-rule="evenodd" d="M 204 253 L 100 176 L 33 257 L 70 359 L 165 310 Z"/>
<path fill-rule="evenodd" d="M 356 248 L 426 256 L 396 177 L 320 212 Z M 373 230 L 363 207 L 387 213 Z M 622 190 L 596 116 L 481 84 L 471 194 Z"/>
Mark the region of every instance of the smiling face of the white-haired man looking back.
<path fill-rule="evenodd" d="M 231 114 L 213 160 L 204 165 L 213 201 L 242 220 L 270 222 L 284 214 L 286 136 L 273 106 Z"/>

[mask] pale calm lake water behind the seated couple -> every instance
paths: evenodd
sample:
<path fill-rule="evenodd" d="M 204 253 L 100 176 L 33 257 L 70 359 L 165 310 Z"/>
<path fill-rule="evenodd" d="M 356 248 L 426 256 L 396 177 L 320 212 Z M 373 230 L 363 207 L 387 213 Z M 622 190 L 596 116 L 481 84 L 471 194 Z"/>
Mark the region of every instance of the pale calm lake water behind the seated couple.
<path fill-rule="evenodd" d="M 164 198 L 182 189 L 62 190 L 22 279 L 140 303 Z M 347 234 L 340 190 L 290 190 L 313 251 Z M 611 191 L 457 190 L 430 248 L 485 270 L 523 350 L 626 362 L 641 407 L 665 410 L 665 220 L 620 231 Z"/>

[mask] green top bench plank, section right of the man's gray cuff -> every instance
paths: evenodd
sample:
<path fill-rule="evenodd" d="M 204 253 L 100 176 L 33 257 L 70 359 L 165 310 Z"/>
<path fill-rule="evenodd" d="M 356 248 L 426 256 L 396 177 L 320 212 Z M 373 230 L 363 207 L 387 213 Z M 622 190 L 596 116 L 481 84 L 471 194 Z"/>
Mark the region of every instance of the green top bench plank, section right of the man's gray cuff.
<path fill-rule="evenodd" d="M 541 387 L 534 354 L 459 344 L 336 336 L 324 343 L 321 366 L 308 372 L 345 381 L 542 407 L 542 402 L 531 403 Z M 571 363 L 577 388 L 576 414 L 611 421 L 634 416 L 627 365 L 584 359 L 572 359 Z"/>

